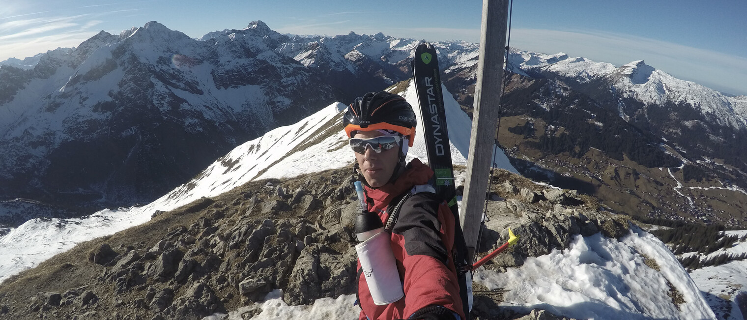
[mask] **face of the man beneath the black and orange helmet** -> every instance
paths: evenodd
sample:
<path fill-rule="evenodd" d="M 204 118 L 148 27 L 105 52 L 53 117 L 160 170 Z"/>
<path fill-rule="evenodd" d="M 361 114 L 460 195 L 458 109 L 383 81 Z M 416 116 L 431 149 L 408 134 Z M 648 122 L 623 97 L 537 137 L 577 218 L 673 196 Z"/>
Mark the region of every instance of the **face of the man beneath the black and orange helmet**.
<path fill-rule="evenodd" d="M 383 135 L 378 131 L 363 131 L 356 133 L 353 138 L 374 138 L 379 135 Z M 394 168 L 397 167 L 397 160 L 399 159 L 399 148 L 390 150 L 382 150 L 381 153 L 376 153 L 371 150 L 370 147 L 366 147 L 365 153 L 355 153 L 356 161 L 358 166 L 361 168 L 363 177 L 373 188 L 379 188 L 385 185 L 386 182 L 391 178 L 391 174 L 394 173 Z"/>

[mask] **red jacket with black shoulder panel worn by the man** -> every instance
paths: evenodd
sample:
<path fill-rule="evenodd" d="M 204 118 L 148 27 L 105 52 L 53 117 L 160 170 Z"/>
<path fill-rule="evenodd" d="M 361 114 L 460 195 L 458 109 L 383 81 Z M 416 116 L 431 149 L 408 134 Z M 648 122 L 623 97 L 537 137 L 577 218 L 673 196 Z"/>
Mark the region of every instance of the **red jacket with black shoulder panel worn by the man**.
<path fill-rule="evenodd" d="M 368 210 L 379 213 L 382 223 L 394 206 L 415 185 L 433 176 L 430 167 L 413 159 L 396 181 L 379 188 L 366 187 Z M 373 200 L 373 202 L 371 202 Z M 394 201 L 393 201 L 394 200 Z M 404 298 L 386 306 L 373 304 L 366 277 L 359 274 L 360 319 L 407 319 L 415 311 L 435 304 L 455 311 L 462 319 L 462 300 L 453 262 L 454 217 L 446 202 L 428 192 L 410 197 L 391 230 L 391 250 L 397 259 Z M 358 263 L 358 270 L 361 265 Z"/>

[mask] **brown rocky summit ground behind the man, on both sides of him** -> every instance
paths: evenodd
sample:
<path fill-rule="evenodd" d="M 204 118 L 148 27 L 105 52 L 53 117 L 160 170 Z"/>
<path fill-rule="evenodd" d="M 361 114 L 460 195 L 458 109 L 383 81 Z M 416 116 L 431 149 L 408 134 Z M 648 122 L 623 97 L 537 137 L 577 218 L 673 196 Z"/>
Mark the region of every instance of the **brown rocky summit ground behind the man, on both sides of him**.
<path fill-rule="evenodd" d="M 202 319 L 262 301 L 275 289 L 291 305 L 353 294 L 358 204 L 350 172 L 249 182 L 156 212 L 147 224 L 79 244 L 7 280 L 0 287 L 1 316 Z M 506 227 L 521 241 L 488 268 L 521 265 L 527 256 L 567 246 L 574 234 L 627 233 L 627 217 L 600 211 L 592 197 L 503 170 L 494 179 L 502 184 L 489 201 L 480 251 L 505 241 Z M 476 301 L 477 319 L 527 316 L 500 313 L 500 295 L 478 294 Z M 533 314 L 530 319 L 556 319 Z"/>

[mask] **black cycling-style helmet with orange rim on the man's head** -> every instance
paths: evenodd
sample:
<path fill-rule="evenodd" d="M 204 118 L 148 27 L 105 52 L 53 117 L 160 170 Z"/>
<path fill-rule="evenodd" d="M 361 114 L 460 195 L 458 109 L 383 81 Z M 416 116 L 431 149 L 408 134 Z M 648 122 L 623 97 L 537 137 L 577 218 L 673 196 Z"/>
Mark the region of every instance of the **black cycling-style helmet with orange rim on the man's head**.
<path fill-rule="evenodd" d="M 350 104 L 344 116 L 345 133 L 353 138 L 356 131 L 387 129 L 415 141 L 415 112 L 405 98 L 386 91 L 369 92 Z"/>

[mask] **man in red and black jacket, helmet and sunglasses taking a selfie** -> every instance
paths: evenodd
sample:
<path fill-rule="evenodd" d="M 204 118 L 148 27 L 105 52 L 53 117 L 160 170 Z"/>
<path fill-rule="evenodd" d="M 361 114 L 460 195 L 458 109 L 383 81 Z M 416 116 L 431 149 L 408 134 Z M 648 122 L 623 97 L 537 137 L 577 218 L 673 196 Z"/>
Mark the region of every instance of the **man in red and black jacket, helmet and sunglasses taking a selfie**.
<path fill-rule="evenodd" d="M 405 163 L 415 138 L 412 106 L 396 94 L 367 93 L 347 108 L 344 126 L 356 154 L 359 180 L 365 185 L 368 210 L 376 212 L 391 232 L 405 293 L 394 303 L 374 304 L 359 263 L 359 318 L 465 319 L 452 261 L 453 215 L 436 194 L 414 188 L 427 184 L 433 170 L 418 159 Z M 391 214 L 397 218 L 389 221 Z"/>

